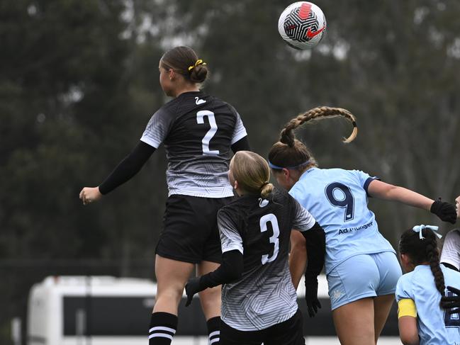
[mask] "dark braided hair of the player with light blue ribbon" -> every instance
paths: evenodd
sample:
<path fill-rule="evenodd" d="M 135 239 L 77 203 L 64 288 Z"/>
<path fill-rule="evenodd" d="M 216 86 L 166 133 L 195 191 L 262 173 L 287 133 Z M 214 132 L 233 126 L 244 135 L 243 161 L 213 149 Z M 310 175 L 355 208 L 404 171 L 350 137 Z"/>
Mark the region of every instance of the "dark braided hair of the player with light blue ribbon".
<path fill-rule="evenodd" d="M 401 235 L 399 251 L 401 254 L 407 254 L 414 265 L 429 262 L 434 276 L 434 284 L 439 293 L 444 296 L 446 286 L 444 283 L 444 274 L 439 266 L 439 250 L 437 248 L 436 235 L 432 230 L 423 229 L 422 236 L 425 239 L 420 239 L 420 234 L 412 229 L 406 230 Z"/>

